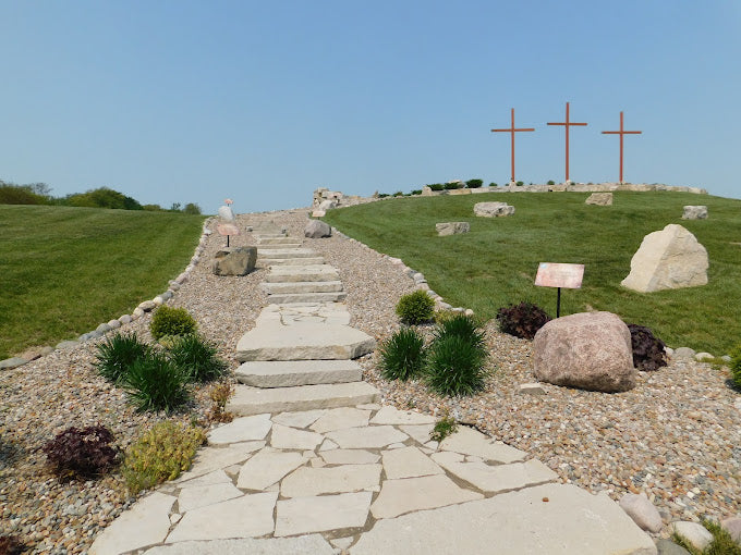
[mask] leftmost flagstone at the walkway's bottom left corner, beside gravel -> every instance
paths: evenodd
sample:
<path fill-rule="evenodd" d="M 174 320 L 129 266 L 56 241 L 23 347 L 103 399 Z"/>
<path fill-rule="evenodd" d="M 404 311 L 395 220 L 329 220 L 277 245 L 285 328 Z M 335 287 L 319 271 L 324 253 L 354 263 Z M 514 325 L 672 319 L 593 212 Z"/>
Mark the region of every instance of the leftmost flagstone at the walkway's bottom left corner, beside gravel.
<path fill-rule="evenodd" d="M 169 513 L 175 501 L 157 492 L 147 495 L 95 539 L 90 554 L 118 555 L 161 542 L 170 529 Z"/>

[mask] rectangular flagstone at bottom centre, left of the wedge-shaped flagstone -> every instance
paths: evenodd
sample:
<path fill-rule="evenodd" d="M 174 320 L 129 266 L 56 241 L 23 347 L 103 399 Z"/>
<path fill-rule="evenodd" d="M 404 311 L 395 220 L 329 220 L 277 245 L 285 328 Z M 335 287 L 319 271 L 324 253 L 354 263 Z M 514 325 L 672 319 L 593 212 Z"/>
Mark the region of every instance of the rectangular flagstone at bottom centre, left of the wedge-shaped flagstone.
<path fill-rule="evenodd" d="M 360 492 L 279 501 L 276 536 L 365 526 L 372 495 Z"/>

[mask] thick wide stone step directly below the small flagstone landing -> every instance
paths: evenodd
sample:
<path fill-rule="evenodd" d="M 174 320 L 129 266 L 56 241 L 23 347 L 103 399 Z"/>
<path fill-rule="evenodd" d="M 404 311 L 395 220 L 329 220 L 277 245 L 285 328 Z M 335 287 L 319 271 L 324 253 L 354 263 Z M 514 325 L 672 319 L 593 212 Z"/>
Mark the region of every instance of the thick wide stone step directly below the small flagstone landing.
<path fill-rule="evenodd" d="M 376 340 L 337 323 L 262 320 L 236 344 L 235 358 L 247 360 L 347 360 L 376 348 Z"/>

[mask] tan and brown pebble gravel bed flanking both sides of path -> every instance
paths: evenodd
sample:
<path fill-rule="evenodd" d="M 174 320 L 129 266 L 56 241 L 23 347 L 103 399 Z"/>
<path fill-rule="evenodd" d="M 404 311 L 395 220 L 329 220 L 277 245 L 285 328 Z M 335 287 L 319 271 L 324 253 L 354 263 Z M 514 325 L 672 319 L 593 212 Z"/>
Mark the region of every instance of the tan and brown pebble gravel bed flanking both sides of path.
<path fill-rule="evenodd" d="M 242 227 L 274 221 L 303 236 L 309 209 L 244 214 Z M 226 239 L 207 239 L 201 264 L 168 304 L 196 318 L 201 333 L 219 346 L 233 370 L 235 344 L 266 304 L 257 287 L 266 270 L 243 278 L 217 278 L 209 261 Z M 254 244 L 251 234 L 232 245 Z M 352 325 L 378 340 L 398 329 L 393 308 L 415 288 L 399 264 L 364 245 L 333 236 L 304 239 L 335 266 L 348 292 Z M 133 310 L 134 307 L 132 307 Z M 111 314 L 116 318 L 118 314 Z M 149 340 L 150 314 L 126 324 Z M 449 411 L 514 447 L 529 452 L 558 472 L 563 482 L 619 499 L 645 491 L 665 522 L 718 519 L 741 513 L 741 402 L 727 384 L 725 370 L 672 360 L 668 368 L 641 373 L 631 392 L 603 394 L 544 384 L 545 395 L 520 394 L 535 381 L 531 343 L 486 328 L 491 351 L 485 391 L 470 398 L 440 398 L 420 382 L 387 382 L 374 355 L 363 357 L 364 378 L 384 402 L 433 415 Z M 141 415 L 120 388 L 93 369 L 96 344 L 84 343 L 0 372 L 0 534 L 14 533 L 29 553 L 84 553 L 95 535 L 134 498 L 113 474 L 96 481 L 60 482 L 38 449 L 69 425 L 102 423 L 125 448 L 141 431 L 165 415 Z M 194 391 L 187 411 L 206 422 L 207 387 Z M 666 530 L 666 529 L 665 529 Z M 665 532 L 666 533 L 666 532 Z"/>

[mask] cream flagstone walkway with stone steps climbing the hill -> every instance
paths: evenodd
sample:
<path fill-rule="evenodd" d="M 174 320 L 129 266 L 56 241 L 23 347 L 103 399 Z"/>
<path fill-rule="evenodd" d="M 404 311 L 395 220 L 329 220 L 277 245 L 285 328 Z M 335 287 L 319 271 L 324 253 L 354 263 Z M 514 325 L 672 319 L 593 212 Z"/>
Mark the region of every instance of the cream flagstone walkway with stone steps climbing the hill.
<path fill-rule="evenodd" d="M 267 283 L 303 284 L 277 294 L 341 293 L 306 285 L 338 280 L 300 240 L 258 236 L 270 239 L 259 254 Z M 240 416 L 90 553 L 656 553 L 607 495 L 556 483 L 538 460 L 471 428 L 438 444 L 433 417 L 377 404 L 351 360 L 373 338 L 345 314 L 323 297 L 266 307 L 238 345 L 244 384 L 230 410 Z"/>

